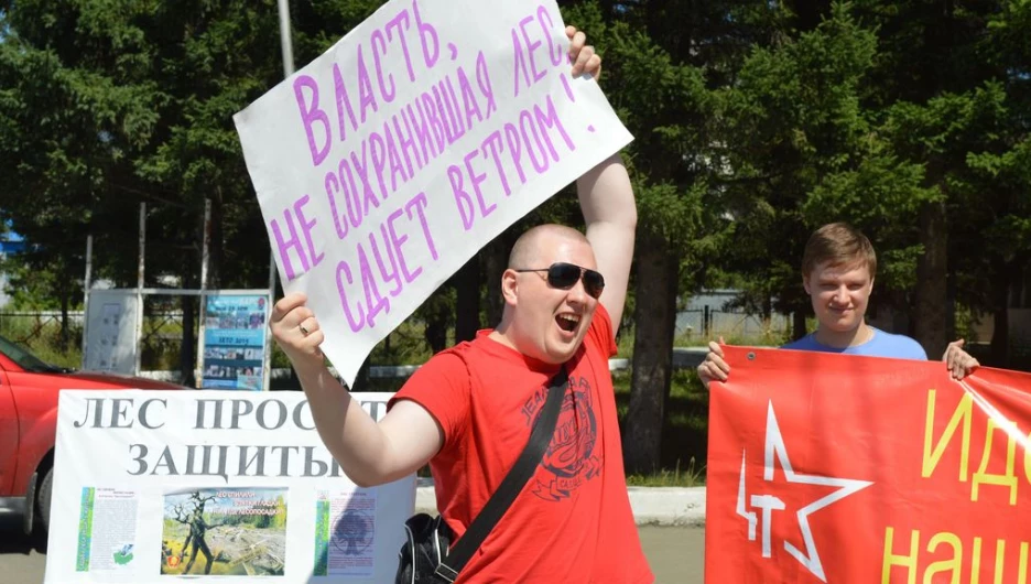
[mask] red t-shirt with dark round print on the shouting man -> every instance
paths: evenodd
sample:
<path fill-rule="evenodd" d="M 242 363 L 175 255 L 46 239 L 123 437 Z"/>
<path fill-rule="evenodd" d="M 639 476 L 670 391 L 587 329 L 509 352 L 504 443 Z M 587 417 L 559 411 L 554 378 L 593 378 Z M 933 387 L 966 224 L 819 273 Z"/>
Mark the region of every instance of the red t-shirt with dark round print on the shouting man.
<path fill-rule="evenodd" d="M 434 356 L 392 402 L 422 404 L 444 429 L 430 462 L 437 509 L 460 537 L 527 445 L 560 366 L 527 357 L 480 331 Z M 599 304 L 566 364 L 569 388 L 536 473 L 459 575 L 462 583 L 642 584 L 654 578 L 627 496 Z"/>

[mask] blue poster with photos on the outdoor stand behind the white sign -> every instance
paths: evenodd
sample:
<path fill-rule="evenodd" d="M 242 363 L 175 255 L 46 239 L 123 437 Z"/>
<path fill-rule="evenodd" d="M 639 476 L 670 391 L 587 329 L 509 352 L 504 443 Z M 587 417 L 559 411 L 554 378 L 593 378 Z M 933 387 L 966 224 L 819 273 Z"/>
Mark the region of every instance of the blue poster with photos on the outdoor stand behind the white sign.
<path fill-rule="evenodd" d="M 204 294 L 200 388 L 265 388 L 271 304 L 268 291 Z"/>

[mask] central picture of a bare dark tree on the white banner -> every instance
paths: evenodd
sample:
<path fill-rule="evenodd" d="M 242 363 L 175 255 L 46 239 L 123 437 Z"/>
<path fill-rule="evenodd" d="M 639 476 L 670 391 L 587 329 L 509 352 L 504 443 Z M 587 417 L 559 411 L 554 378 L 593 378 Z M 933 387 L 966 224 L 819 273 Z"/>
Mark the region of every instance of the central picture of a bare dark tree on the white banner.
<path fill-rule="evenodd" d="M 161 573 L 283 575 L 286 490 L 206 488 L 166 494 Z"/>

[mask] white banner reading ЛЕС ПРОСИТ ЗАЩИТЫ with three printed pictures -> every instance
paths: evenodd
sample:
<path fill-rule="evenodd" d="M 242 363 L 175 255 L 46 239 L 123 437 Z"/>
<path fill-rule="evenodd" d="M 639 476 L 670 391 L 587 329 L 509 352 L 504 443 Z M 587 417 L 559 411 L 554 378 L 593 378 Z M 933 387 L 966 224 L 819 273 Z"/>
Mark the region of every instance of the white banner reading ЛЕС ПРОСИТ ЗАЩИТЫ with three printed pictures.
<path fill-rule="evenodd" d="M 45 584 L 393 582 L 415 505 L 351 483 L 300 391 L 65 390 L 54 465 Z"/>

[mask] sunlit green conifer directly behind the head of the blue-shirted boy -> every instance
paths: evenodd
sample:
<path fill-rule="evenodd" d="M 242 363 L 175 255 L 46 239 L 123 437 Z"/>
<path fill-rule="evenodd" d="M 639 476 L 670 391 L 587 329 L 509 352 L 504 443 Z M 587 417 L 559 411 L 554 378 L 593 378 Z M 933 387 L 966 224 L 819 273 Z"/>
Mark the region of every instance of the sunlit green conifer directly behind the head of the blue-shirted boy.
<path fill-rule="evenodd" d="M 837 196 L 850 182 L 890 167 L 867 160 L 877 145 L 859 91 L 875 53 L 873 33 L 835 4 L 815 29 L 753 48 L 720 91 L 721 202 L 734 232 L 725 257 L 745 277 L 747 304 L 794 314 L 794 338 L 811 312 L 797 268 L 810 221 L 848 207 Z"/>

